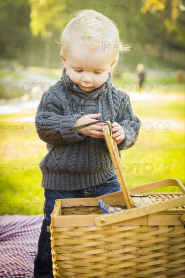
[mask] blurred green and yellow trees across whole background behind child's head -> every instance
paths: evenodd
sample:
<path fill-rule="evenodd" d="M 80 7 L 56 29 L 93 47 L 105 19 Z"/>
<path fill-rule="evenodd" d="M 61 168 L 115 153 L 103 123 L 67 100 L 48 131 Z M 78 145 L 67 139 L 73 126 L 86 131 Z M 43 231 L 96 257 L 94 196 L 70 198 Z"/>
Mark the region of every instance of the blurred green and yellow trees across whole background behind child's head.
<path fill-rule="evenodd" d="M 133 65 L 152 54 L 145 50 L 147 42 L 157 48 L 160 59 L 172 48 L 184 48 L 184 0 L 7 0 L 0 4 L 6 6 L 1 6 L 1 55 L 19 59 L 24 66 L 59 63 L 56 42 L 72 13 L 80 9 L 94 9 L 117 24 L 121 38 L 132 44 L 128 57 Z M 52 51 L 45 51 L 50 44 Z"/>

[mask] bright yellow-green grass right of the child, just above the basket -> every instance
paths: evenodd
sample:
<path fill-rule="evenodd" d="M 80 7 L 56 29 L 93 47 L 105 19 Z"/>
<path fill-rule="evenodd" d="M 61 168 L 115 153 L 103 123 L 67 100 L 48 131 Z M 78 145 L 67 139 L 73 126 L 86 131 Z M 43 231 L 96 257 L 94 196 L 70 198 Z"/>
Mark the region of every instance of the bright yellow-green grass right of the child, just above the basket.
<path fill-rule="evenodd" d="M 121 163 L 128 187 L 165 178 L 178 178 L 184 183 L 184 135 L 178 132 L 159 133 L 154 128 L 150 133 L 143 129 L 130 149 L 122 152 Z M 159 190 L 176 192 L 176 188 Z"/>

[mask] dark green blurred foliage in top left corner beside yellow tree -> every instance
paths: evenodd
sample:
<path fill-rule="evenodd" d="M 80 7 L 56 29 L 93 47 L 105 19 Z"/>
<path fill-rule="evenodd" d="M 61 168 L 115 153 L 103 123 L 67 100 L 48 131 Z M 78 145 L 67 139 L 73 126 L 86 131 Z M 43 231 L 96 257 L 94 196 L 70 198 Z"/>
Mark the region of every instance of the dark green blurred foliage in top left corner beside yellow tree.
<path fill-rule="evenodd" d="M 1 7 L 1 57 L 18 59 L 26 67 L 33 39 L 29 28 L 30 5 L 24 1 L 24 9 L 21 9 L 17 0 L 5 4 Z"/>

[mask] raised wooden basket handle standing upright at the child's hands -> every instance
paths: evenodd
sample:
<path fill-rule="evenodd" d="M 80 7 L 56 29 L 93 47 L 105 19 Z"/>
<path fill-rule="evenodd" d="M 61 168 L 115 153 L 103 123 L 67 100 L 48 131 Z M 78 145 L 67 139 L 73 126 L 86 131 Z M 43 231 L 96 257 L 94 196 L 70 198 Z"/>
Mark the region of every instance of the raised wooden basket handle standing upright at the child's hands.
<path fill-rule="evenodd" d="M 119 183 L 120 183 L 121 190 L 123 193 L 123 198 L 124 198 L 125 203 L 127 204 L 127 207 L 133 208 L 134 207 L 133 201 L 132 201 L 129 191 L 127 189 L 126 180 L 124 177 L 123 169 L 121 167 L 121 161 L 120 161 L 120 157 L 119 157 L 117 143 L 116 143 L 115 138 L 112 137 L 111 122 L 107 121 L 106 123 L 107 123 L 107 125 L 103 126 L 105 141 L 107 143 L 107 147 L 108 147 L 109 153 L 111 155 L 117 177 L 119 179 Z"/>

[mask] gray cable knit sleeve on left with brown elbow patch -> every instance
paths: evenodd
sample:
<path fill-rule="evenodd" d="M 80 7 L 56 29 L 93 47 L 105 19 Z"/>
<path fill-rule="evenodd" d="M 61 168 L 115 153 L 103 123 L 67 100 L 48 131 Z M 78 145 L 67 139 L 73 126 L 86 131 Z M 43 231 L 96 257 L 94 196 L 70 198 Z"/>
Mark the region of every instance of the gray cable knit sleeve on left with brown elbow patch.
<path fill-rule="evenodd" d="M 35 117 L 36 131 L 42 141 L 53 146 L 64 146 L 84 140 L 85 136 L 76 130 L 69 131 L 81 114 L 71 115 L 68 112 L 64 116 L 65 107 L 65 99 L 57 96 L 55 86 L 43 94 Z"/>

